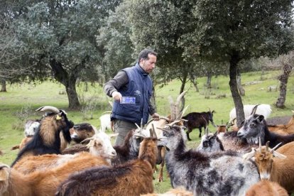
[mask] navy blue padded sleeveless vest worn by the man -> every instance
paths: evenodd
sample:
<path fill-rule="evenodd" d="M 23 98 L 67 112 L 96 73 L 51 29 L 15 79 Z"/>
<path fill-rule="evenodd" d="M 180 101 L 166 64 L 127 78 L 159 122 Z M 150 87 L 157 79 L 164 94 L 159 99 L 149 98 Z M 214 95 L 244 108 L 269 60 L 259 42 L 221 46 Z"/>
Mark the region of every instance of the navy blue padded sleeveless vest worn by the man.
<path fill-rule="evenodd" d="M 130 121 L 140 126 L 141 119 L 146 124 L 149 117 L 148 101 L 152 94 L 151 77 L 136 63 L 124 69 L 129 83 L 126 90 L 118 89 L 123 97 L 136 97 L 136 104 L 120 104 L 114 101 L 111 119 Z"/>

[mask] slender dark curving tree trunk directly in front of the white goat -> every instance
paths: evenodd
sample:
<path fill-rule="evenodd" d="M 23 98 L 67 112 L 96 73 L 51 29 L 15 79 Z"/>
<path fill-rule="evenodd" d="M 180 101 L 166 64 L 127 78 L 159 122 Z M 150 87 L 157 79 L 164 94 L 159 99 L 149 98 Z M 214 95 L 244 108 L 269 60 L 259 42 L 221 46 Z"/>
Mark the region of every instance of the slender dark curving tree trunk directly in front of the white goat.
<path fill-rule="evenodd" d="M 240 126 L 241 121 L 244 121 L 245 119 L 243 103 L 236 82 L 237 66 L 240 60 L 239 54 L 236 52 L 231 56 L 231 60 L 229 60 L 229 88 L 231 89 L 234 105 L 236 107 L 237 126 Z"/>

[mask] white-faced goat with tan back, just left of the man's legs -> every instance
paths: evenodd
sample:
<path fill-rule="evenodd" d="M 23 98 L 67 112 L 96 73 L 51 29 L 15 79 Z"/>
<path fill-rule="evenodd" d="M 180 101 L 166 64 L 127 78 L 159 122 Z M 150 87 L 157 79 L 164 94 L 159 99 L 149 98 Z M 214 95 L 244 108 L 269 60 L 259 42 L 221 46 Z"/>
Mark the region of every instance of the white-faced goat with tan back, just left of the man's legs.
<path fill-rule="evenodd" d="M 89 153 L 93 156 L 105 158 L 109 163 L 111 158 L 116 156 L 116 151 L 111 146 L 110 137 L 104 132 L 100 131 L 92 138 L 87 138 L 86 140 L 90 141 L 86 148 L 89 149 Z M 77 156 L 83 156 L 85 153 L 87 152 L 75 153 L 74 155 L 46 154 L 43 156 L 28 156 L 19 160 L 13 168 L 23 174 L 32 173 L 35 170 L 54 168 Z"/>

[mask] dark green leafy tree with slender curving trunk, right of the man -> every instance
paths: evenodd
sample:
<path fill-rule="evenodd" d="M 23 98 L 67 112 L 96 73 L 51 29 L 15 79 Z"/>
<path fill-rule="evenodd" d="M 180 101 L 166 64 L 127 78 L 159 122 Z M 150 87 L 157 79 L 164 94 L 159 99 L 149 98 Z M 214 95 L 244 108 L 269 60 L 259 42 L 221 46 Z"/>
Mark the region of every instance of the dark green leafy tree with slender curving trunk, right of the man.
<path fill-rule="evenodd" d="M 229 87 L 240 125 L 244 111 L 236 82 L 239 62 L 293 48 L 292 1 L 199 0 L 193 6 L 195 29 L 184 37 L 185 54 L 229 62 Z"/>

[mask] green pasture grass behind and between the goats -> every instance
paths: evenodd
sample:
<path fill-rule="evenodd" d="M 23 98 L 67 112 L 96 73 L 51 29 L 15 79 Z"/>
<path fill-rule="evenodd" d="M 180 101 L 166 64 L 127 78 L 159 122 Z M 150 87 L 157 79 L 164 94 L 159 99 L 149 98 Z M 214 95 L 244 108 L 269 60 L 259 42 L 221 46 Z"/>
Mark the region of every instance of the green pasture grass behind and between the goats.
<path fill-rule="evenodd" d="M 246 95 L 242 97 L 243 104 L 271 104 L 273 116 L 290 116 L 291 110 L 294 109 L 294 77 L 290 76 L 288 81 L 288 92 L 285 102 L 285 109 L 277 109 L 274 107 L 279 92 L 272 90 L 268 91 L 269 86 L 278 87 L 279 71 L 265 72 L 249 72 L 242 75 L 242 84 L 258 81 L 255 85 L 244 85 Z M 216 124 L 225 123 L 229 120 L 229 111 L 234 107 L 231 92 L 229 91 L 229 78 L 219 76 L 212 79 L 212 89 L 205 87 L 206 78 L 197 80 L 200 92 L 195 92 L 194 87 L 187 83 L 185 89 L 188 90 L 185 96 L 185 105 L 190 107 L 187 113 L 192 111 L 208 111 L 209 109 L 216 111 L 214 121 Z M 42 112 L 37 112 L 35 109 L 44 105 L 52 105 L 60 109 L 65 109 L 68 118 L 76 124 L 88 122 L 99 127 L 99 116 L 104 111 L 109 111 L 110 107 L 108 100 L 99 85 L 88 86 L 89 90 L 84 91 L 85 84 L 77 87 L 80 101 L 86 104 L 82 111 L 69 111 L 67 95 L 63 94 L 65 89 L 62 85 L 56 82 L 45 82 L 42 84 L 30 85 L 23 83 L 21 85 L 8 85 L 8 92 L 0 92 L 0 149 L 4 152 L 4 156 L 0 156 L 0 162 L 11 164 L 18 151 L 11 151 L 12 146 L 20 143 L 23 138 L 23 124 L 26 119 L 40 119 Z M 168 96 L 173 99 L 178 96 L 180 90 L 180 82 L 174 80 L 169 82 L 162 88 L 156 88 L 156 104 L 158 114 L 166 116 L 169 113 Z M 209 99 L 205 99 L 209 97 Z M 94 108 L 94 109 L 89 109 Z M 29 111 L 28 116 L 21 111 Z M 23 114 L 23 115 L 21 115 Z M 209 130 L 214 131 L 214 128 L 209 125 Z M 199 143 L 198 131 L 195 129 L 190 134 L 192 141 L 187 141 L 188 148 L 195 148 Z M 170 180 L 164 171 L 163 183 L 157 183 L 154 180 L 156 192 L 165 192 L 170 189 Z M 155 175 L 156 177 L 156 175 Z"/>

